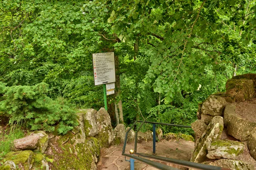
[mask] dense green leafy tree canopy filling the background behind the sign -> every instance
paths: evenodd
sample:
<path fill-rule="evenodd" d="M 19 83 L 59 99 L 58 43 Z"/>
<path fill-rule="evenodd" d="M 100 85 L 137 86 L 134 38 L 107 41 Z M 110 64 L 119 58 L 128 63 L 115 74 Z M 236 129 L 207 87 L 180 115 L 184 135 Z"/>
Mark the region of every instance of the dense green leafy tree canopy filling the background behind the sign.
<path fill-rule="evenodd" d="M 108 103 L 122 100 L 125 123 L 163 104 L 193 119 L 192 102 L 255 71 L 255 23 L 255 0 L 3 0 L 0 81 L 46 82 L 48 96 L 99 109 L 92 53 L 114 51 L 120 87 Z"/>

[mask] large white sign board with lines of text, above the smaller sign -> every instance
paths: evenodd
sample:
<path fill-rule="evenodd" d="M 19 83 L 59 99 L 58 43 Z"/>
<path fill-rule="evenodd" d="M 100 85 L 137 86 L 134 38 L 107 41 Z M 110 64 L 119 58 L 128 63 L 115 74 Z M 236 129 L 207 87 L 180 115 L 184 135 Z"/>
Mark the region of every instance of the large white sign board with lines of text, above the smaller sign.
<path fill-rule="evenodd" d="M 95 85 L 116 82 L 113 52 L 93 54 L 93 75 Z"/>

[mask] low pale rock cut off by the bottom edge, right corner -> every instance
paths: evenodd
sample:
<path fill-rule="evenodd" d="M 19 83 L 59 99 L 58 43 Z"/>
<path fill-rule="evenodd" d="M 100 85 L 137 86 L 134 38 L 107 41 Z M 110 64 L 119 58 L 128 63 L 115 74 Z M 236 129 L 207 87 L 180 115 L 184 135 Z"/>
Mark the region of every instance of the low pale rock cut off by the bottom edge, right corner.
<path fill-rule="evenodd" d="M 254 170 L 253 165 L 232 159 L 218 159 L 216 161 L 210 162 L 209 165 L 224 167 L 231 170 Z"/>

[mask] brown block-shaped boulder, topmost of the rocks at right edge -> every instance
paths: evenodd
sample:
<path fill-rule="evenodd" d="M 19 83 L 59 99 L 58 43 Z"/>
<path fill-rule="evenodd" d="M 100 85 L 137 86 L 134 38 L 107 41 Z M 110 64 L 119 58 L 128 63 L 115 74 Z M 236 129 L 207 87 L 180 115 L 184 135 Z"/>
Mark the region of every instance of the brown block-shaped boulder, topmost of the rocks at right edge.
<path fill-rule="evenodd" d="M 236 101 L 244 102 L 253 97 L 253 81 L 250 79 L 228 79 L 226 83 L 226 94 L 234 97 Z"/>

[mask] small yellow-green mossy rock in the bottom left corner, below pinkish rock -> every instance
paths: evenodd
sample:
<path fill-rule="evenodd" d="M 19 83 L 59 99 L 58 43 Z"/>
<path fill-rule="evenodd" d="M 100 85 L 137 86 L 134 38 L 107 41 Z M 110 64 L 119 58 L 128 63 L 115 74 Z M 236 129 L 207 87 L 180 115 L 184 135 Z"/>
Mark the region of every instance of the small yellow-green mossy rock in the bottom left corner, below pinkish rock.
<path fill-rule="evenodd" d="M 20 169 L 30 170 L 34 163 L 34 153 L 31 150 L 9 152 L 5 155 L 5 159 L 13 161 Z"/>

